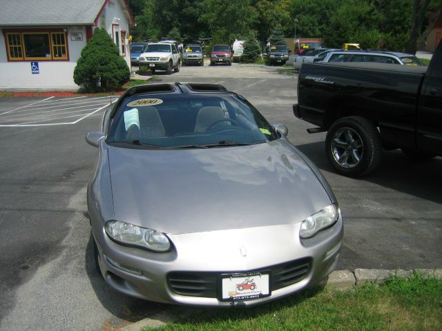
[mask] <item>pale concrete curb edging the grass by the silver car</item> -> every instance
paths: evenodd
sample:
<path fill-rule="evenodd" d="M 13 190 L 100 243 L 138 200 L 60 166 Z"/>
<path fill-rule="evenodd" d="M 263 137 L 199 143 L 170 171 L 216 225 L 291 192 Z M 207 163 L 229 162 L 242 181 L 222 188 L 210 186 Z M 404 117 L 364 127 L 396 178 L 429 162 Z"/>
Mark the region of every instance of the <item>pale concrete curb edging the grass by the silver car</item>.
<path fill-rule="evenodd" d="M 442 280 L 442 269 L 416 269 L 416 272 L 421 272 L 423 277 L 434 277 Z M 329 274 L 327 281 L 327 288 L 336 290 L 347 290 L 354 286 L 364 285 L 365 283 L 384 283 L 388 278 L 396 277 L 410 277 L 412 271 L 406 270 L 385 270 L 385 269 L 355 269 L 354 272 L 349 270 L 338 270 Z M 183 309 L 182 313 L 171 314 L 170 312 L 159 312 L 153 317 L 148 319 L 142 319 L 130 325 L 126 325 L 124 328 L 119 329 L 121 331 L 140 331 L 142 328 L 160 328 L 167 323 L 178 321 L 184 317 L 189 316 L 186 310 Z"/>

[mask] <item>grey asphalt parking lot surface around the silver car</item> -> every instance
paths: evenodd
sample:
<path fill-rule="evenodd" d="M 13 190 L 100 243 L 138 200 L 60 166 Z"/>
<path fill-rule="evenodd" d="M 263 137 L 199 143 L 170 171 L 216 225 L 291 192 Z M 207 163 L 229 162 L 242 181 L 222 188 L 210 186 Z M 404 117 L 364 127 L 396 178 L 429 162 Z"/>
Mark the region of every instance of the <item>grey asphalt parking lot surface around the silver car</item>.
<path fill-rule="evenodd" d="M 338 269 L 442 268 L 442 158 L 386 153 L 371 177 L 335 174 L 325 134 L 296 119 L 297 76 L 265 66 L 182 67 L 155 82 L 220 83 L 238 92 L 323 172 L 340 203 Z M 95 272 L 86 185 L 97 150 L 84 141 L 115 98 L 0 98 L 0 330 L 112 330 L 169 305 L 119 294 Z M 188 309 L 192 311 L 192 309 Z"/>

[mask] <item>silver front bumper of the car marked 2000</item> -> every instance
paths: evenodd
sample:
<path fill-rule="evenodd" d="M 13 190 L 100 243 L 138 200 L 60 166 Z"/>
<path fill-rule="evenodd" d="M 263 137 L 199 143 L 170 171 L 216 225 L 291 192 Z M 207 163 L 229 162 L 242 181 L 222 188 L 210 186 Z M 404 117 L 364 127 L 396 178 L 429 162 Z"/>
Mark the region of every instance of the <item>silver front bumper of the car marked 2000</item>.
<path fill-rule="evenodd" d="M 90 214 L 93 219 L 93 236 L 99 251 L 100 268 L 111 287 L 140 299 L 182 305 L 228 307 L 238 302 L 245 306 L 257 305 L 308 288 L 320 283 L 336 268 L 343 239 L 343 221 L 339 217 L 332 228 L 303 241 L 298 236 L 300 223 L 265 228 L 169 234 L 174 245 L 173 251 L 158 254 L 111 241 L 102 222 L 94 221 L 95 212 L 90 211 Z M 253 243 L 249 242 L 249 238 L 253 238 Z M 242 245 L 247 246 L 246 257 L 240 255 Z M 270 297 L 236 303 L 218 299 L 218 283 L 209 284 L 216 289 L 217 294 L 212 297 L 198 297 L 178 294 L 168 279 L 168 275 L 176 272 L 220 275 L 274 270 L 272 266 L 300 260 L 309 261 L 309 268 L 302 279 L 286 287 L 273 289 Z"/>

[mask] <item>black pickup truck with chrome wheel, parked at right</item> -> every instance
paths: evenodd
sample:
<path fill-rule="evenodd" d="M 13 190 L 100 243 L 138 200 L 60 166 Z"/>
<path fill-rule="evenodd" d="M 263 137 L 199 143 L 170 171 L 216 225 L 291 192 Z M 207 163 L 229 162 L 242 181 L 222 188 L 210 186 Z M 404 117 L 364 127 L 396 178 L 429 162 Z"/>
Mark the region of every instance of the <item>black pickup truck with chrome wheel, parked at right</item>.
<path fill-rule="evenodd" d="M 428 67 L 305 63 L 293 110 L 318 127 L 307 132 L 327 131 L 327 157 L 349 177 L 375 170 L 384 150 L 442 155 L 442 43 Z"/>

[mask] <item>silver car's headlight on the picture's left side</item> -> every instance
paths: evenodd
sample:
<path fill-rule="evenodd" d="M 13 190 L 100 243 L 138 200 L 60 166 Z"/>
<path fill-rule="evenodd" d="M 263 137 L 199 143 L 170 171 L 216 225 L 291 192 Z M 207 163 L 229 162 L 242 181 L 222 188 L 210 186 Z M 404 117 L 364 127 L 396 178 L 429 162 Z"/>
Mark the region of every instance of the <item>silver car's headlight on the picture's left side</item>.
<path fill-rule="evenodd" d="M 122 221 L 108 221 L 104 229 L 113 241 L 122 245 L 134 245 L 153 252 L 167 252 L 171 249 L 169 238 L 156 230 Z"/>

